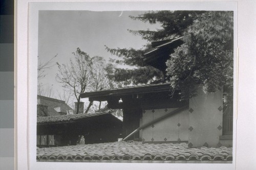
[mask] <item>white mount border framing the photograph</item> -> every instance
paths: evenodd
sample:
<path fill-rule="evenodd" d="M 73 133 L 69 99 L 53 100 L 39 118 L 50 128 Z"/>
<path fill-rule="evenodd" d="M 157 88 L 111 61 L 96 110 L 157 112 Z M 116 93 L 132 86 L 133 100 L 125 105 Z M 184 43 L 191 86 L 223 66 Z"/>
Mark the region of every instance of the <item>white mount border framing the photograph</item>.
<path fill-rule="evenodd" d="M 26 4 L 29 3 L 29 4 Z M 17 3 L 18 20 L 17 25 L 24 26 L 19 31 L 23 32 L 26 30 L 26 23 L 28 23 L 26 35 L 17 36 L 18 46 L 17 50 L 22 51 L 18 53 L 17 58 L 17 77 L 18 84 L 23 84 L 17 88 L 17 94 L 26 96 L 24 101 L 18 101 L 17 104 L 17 165 L 20 169 L 22 167 L 29 167 L 30 169 L 46 169 L 54 167 L 55 169 L 84 169 L 89 167 L 90 169 L 98 169 L 104 167 L 104 169 L 113 168 L 145 168 L 155 169 L 163 168 L 169 169 L 170 167 L 178 169 L 234 169 L 236 161 L 236 153 L 233 148 L 233 163 L 231 164 L 158 164 L 158 163 L 71 163 L 71 162 L 36 162 L 36 116 L 32 114 L 36 112 L 35 102 L 37 93 L 37 38 L 38 38 L 38 11 L 39 10 L 91 10 L 91 11 L 122 11 L 122 10 L 230 10 L 234 11 L 234 49 L 237 48 L 237 3 L 236 2 L 38 2 L 38 1 L 27 1 Z M 28 8 L 29 6 L 29 8 Z M 29 14 L 20 11 L 21 8 L 29 9 Z M 19 14 L 22 13 L 23 15 Z M 27 18 L 28 16 L 28 18 Z M 23 19 L 25 23 L 21 23 Z M 28 20 L 27 20 L 28 19 Z M 26 22 L 28 21 L 28 22 Z M 27 48 L 21 46 L 21 42 L 27 42 Z M 28 51 L 27 51 L 28 49 Z M 234 50 L 234 56 L 237 56 L 237 51 Z M 234 66 L 237 65 L 237 58 L 234 57 Z M 28 66 L 28 67 L 27 67 Z M 23 68 L 22 68 L 23 67 Z M 28 69 L 27 69 L 28 68 Z M 27 74 L 24 74 L 27 72 Z M 236 89 L 237 82 L 237 69 L 234 68 L 234 89 Z M 21 80 L 23 78 L 23 80 Z M 28 85 L 28 87 L 26 86 Z M 237 95 L 234 91 L 234 99 Z M 19 97 L 20 98 L 20 97 Z M 236 101 L 236 100 L 234 100 Z M 24 105 L 23 105 L 24 104 Z M 234 105 L 236 106 L 236 105 Z M 28 110 L 21 111 L 21 110 Z M 28 114 L 27 114 L 28 113 Z M 236 109 L 234 109 L 236 113 Z M 234 116 L 235 117 L 235 116 Z M 25 129 L 27 129 L 25 131 Z M 236 124 L 234 123 L 233 134 L 236 134 Z M 233 139 L 233 146 L 236 145 L 236 139 Z M 25 163 L 26 162 L 26 163 Z"/>

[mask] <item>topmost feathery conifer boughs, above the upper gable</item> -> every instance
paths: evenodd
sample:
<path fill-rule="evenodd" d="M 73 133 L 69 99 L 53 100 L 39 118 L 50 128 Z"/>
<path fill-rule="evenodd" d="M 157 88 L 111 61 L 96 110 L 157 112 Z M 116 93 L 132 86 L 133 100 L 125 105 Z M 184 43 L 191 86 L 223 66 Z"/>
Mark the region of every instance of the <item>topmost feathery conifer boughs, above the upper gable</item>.
<path fill-rule="evenodd" d="M 148 41 L 158 41 L 163 39 L 170 39 L 183 35 L 184 30 L 193 24 L 193 21 L 198 15 L 205 11 L 152 11 L 144 13 L 137 17 L 130 16 L 132 19 L 149 22 L 151 24 L 160 23 L 162 29 L 157 31 L 137 30 L 131 33 L 140 35 L 143 39 Z"/>

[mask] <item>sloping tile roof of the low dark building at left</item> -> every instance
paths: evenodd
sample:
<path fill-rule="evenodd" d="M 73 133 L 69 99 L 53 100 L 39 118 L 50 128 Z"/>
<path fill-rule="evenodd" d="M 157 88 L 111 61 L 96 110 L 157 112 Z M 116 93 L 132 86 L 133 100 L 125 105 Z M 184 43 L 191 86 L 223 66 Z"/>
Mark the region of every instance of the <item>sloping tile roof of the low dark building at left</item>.
<path fill-rule="evenodd" d="M 69 122 L 72 122 L 73 120 L 79 120 L 79 119 L 101 116 L 106 114 L 112 115 L 110 112 L 101 112 L 101 113 L 93 113 L 93 114 L 69 114 L 69 115 L 62 115 L 62 116 L 37 117 L 37 124 L 69 123 Z"/>

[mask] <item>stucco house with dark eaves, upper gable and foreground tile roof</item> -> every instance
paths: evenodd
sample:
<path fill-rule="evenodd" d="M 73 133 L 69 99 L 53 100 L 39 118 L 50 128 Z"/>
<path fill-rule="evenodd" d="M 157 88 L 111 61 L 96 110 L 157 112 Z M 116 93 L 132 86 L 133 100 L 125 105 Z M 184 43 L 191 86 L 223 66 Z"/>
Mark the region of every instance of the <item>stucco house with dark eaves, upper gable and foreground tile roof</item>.
<path fill-rule="evenodd" d="M 164 72 L 169 53 L 181 43 L 153 42 L 145 62 Z M 163 83 L 86 92 L 81 98 L 123 110 L 123 141 L 37 148 L 37 161 L 232 163 L 232 109 L 223 106 L 223 90 L 205 94 L 199 85 L 197 96 L 180 101 L 179 89 Z"/>

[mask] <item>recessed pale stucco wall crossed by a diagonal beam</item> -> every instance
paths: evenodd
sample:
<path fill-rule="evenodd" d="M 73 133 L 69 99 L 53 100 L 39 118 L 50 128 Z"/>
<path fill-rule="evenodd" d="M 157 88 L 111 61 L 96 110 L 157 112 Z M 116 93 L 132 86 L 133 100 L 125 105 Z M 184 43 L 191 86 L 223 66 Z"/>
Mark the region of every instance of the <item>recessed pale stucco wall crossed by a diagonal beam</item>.
<path fill-rule="evenodd" d="M 151 122 L 177 108 L 143 110 L 140 126 Z M 170 115 L 160 122 L 140 130 L 142 141 L 187 141 L 188 140 L 188 109 Z"/>

